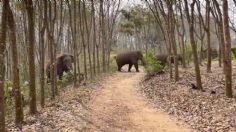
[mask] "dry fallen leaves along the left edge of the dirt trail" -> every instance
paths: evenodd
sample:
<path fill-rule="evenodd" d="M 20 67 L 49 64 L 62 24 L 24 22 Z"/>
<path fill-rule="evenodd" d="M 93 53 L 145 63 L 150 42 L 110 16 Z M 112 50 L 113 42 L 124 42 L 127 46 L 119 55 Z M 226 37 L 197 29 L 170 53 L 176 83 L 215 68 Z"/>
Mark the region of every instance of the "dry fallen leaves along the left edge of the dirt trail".
<path fill-rule="evenodd" d="M 47 101 L 45 108 L 39 110 L 36 116 L 25 116 L 22 128 L 14 123 L 8 124 L 8 131 L 23 132 L 72 132 L 84 131 L 87 124 L 89 108 L 88 101 L 99 87 L 98 83 L 89 83 L 87 86 L 73 88 L 68 86 L 55 100 Z"/>

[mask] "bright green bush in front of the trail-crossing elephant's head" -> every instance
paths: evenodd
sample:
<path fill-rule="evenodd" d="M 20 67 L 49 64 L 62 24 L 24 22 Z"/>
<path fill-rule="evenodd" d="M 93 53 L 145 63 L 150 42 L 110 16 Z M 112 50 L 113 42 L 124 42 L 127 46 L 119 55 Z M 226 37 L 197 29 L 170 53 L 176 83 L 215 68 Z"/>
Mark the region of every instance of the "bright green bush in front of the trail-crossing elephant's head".
<path fill-rule="evenodd" d="M 148 52 L 145 56 L 145 71 L 148 75 L 160 72 L 163 70 L 163 66 L 157 61 L 151 52 Z"/>

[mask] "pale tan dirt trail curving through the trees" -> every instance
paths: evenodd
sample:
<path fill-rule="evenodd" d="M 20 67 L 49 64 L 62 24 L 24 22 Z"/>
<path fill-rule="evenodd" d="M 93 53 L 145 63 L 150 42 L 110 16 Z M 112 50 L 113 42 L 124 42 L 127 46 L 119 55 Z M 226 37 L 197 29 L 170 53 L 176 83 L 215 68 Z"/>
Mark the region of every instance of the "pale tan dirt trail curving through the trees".
<path fill-rule="evenodd" d="M 157 111 L 136 90 L 144 76 L 140 73 L 116 73 L 102 84 L 92 100 L 89 131 L 189 132 L 166 113 Z M 182 124 L 182 123 L 181 123 Z"/>

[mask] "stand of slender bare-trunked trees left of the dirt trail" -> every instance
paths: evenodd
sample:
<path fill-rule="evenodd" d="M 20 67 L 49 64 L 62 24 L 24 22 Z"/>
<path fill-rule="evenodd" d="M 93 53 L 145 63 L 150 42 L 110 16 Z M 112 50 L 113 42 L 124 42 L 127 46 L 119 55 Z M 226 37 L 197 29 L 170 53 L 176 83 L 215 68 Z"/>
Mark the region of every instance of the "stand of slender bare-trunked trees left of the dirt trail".
<path fill-rule="evenodd" d="M 5 129 L 8 104 L 4 103 L 4 97 L 9 92 L 14 97 L 15 112 L 11 112 L 16 115 L 16 124 L 23 122 L 23 103 L 29 106 L 30 114 L 36 114 L 37 102 L 44 107 L 45 98 L 54 99 L 59 94 L 55 67 L 52 83 L 47 85 L 45 79 L 46 64 L 53 63 L 58 54 L 74 56 L 75 87 L 82 79 L 95 79 L 109 71 L 119 6 L 119 0 L 1 2 L 0 131 Z M 6 88 L 8 84 L 13 91 Z M 28 102 L 23 102 L 22 96 Z"/>

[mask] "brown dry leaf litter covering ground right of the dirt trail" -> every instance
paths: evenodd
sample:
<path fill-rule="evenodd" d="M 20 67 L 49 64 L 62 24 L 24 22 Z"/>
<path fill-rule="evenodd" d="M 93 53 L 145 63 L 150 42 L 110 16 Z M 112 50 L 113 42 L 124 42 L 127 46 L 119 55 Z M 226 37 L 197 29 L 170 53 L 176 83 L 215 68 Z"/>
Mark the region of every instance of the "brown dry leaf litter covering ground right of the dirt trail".
<path fill-rule="evenodd" d="M 185 121 L 196 131 L 235 132 L 236 99 L 225 97 L 222 68 L 213 63 L 212 73 L 206 73 L 204 66 L 201 75 L 204 91 L 191 88 L 191 83 L 195 83 L 193 68 L 181 69 L 181 79 L 177 83 L 169 79 L 168 73 L 144 79 L 140 90 L 157 108 Z M 233 90 L 236 92 L 235 86 Z"/>

